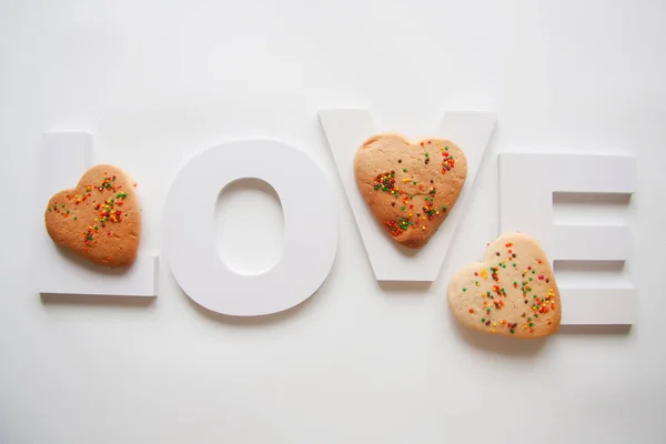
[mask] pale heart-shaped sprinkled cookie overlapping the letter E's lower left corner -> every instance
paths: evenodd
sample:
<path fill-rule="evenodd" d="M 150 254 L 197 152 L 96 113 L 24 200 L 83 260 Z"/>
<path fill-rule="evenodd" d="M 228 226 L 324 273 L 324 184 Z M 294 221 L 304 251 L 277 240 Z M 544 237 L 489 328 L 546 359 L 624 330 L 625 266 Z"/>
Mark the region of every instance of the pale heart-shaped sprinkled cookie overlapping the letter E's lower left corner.
<path fill-rule="evenodd" d="M 546 253 L 522 233 L 495 239 L 483 262 L 457 272 L 448 284 L 448 305 L 462 324 L 506 336 L 547 336 L 557 332 L 562 319 Z"/>

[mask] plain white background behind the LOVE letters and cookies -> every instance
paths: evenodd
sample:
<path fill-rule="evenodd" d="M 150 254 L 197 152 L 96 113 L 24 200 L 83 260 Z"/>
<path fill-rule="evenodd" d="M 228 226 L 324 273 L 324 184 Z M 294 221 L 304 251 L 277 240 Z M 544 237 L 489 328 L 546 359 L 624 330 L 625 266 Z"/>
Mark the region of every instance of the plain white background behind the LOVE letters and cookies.
<path fill-rule="evenodd" d="M 663 442 L 665 23 L 660 0 L 0 1 L 0 442 Z M 148 303 L 34 292 L 43 131 L 93 132 L 97 160 L 138 179 L 159 253 L 168 185 L 194 152 L 275 137 L 335 181 L 316 110 L 345 105 L 411 137 L 447 109 L 498 113 L 432 286 L 380 287 L 337 186 L 331 275 L 286 313 L 211 314 L 164 264 Z M 639 286 L 630 330 L 518 342 L 454 324 L 447 279 L 496 234 L 495 154 L 516 149 L 638 155 L 629 209 L 602 210 L 634 229 L 617 278 Z M 234 266 L 270 266 L 274 198 L 222 200 L 218 242 L 250 258 Z M 266 256 L 234 243 L 255 245 L 251 226 Z"/>

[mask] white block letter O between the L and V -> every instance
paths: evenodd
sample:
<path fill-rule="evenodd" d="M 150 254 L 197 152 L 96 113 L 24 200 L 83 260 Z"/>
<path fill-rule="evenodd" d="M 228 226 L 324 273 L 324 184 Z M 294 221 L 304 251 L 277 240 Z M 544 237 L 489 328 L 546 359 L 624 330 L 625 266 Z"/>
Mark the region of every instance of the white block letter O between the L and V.
<path fill-rule="evenodd" d="M 284 214 L 282 258 L 255 275 L 231 270 L 214 241 L 218 195 L 248 178 L 271 184 Z M 246 139 L 211 148 L 185 164 L 167 195 L 169 266 L 188 296 L 213 312 L 256 316 L 291 309 L 310 297 L 331 272 L 337 249 L 336 206 L 329 178 L 294 147 Z"/>

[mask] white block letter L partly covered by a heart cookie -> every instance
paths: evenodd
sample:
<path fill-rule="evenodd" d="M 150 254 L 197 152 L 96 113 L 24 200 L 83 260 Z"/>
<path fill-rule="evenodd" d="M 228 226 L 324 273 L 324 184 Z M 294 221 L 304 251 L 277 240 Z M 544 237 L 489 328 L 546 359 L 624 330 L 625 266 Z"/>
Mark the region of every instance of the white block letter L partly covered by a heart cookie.
<path fill-rule="evenodd" d="M 92 167 L 92 138 L 85 132 L 48 132 L 39 159 L 39 201 L 42 212 L 59 191 L 73 189 Z M 119 165 L 122 168 L 122 165 Z M 139 245 L 134 264 L 127 270 L 89 264 L 58 248 L 47 230 L 39 231 L 34 253 L 37 290 L 49 294 L 157 296 L 158 256 Z"/>

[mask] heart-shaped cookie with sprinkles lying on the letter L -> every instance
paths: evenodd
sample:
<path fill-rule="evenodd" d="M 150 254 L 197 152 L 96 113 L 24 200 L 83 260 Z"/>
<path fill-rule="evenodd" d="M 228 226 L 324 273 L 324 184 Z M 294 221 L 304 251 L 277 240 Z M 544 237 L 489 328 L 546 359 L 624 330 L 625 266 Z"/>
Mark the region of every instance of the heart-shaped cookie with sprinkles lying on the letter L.
<path fill-rule="evenodd" d="M 54 194 L 44 220 L 56 243 L 92 262 L 129 266 L 137 258 L 139 199 L 131 178 L 117 167 L 92 167 L 74 190 Z"/>

